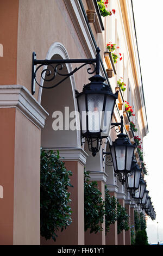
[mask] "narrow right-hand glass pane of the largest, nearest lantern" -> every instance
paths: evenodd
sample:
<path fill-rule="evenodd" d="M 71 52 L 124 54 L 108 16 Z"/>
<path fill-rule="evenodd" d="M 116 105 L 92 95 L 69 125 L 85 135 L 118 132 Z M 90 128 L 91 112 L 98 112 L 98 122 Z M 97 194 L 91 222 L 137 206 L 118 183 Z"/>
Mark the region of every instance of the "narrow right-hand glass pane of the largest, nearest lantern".
<path fill-rule="evenodd" d="M 109 136 L 110 125 L 111 125 L 111 113 L 114 107 L 115 99 L 110 95 L 106 95 L 105 97 L 106 97 L 106 104 L 105 104 L 105 110 L 102 117 L 101 135 Z"/>

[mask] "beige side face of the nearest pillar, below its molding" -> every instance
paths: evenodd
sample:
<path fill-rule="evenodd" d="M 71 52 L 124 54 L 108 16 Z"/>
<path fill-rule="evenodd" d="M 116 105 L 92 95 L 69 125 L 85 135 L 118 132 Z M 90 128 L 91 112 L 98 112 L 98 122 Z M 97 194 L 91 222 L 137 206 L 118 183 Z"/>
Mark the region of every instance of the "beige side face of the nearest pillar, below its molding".
<path fill-rule="evenodd" d="M 40 132 L 16 109 L 14 245 L 40 244 Z"/>

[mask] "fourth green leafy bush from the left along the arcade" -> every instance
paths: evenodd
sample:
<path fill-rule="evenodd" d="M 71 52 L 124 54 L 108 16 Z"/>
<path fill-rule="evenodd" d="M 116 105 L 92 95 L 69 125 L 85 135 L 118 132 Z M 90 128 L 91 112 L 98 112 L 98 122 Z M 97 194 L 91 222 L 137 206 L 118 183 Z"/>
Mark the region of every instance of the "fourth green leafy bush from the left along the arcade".
<path fill-rule="evenodd" d="M 117 202 L 117 230 L 118 234 L 124 229 L 125 231 L 129 230 L 129 215 L 127 214 L 126 209 Z"/>

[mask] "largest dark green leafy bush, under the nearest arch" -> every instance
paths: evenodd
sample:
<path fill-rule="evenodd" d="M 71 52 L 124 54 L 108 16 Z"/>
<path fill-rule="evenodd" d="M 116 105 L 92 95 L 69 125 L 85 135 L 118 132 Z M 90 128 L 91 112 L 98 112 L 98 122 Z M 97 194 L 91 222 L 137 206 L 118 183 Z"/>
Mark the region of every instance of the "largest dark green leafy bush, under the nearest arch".
<path fill-rule="evenodd" d="M 56 231 L 64 230 L 71 223 L 71 199 L 67 191 L 70 184 L 69 176 L 59 152 L 41 149 L 41 236 L 46 240 L 55 241 Z"/>

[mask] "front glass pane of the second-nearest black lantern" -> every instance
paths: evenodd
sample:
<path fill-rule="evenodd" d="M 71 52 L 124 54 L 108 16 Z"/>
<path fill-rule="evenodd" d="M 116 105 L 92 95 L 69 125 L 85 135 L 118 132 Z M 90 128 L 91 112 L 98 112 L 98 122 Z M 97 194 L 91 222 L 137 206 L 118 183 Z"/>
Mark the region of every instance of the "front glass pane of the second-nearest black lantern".
<path fill-rule="evenodd" d="M 120 171 L 124 170 L 126 147 L 124 146 L 115 147 L 115 150 L 116 150 L 117 169 Z"/>

